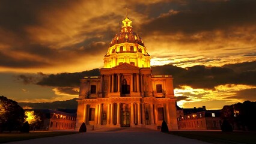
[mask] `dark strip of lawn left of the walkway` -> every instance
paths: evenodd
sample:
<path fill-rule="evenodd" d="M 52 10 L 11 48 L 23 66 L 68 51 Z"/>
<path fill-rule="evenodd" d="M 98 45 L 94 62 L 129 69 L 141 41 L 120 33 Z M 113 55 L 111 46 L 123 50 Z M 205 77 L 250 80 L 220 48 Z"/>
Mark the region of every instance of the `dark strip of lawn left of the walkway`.
<path fill-rule="evenodd" d="M 0 143 L 14 142 L 20 140 L 37 139 L 42 137 L 63 136 L 67 134 L 75 134 L 74 131 L 50 131 L 36 133 L 0 133 Z"/>

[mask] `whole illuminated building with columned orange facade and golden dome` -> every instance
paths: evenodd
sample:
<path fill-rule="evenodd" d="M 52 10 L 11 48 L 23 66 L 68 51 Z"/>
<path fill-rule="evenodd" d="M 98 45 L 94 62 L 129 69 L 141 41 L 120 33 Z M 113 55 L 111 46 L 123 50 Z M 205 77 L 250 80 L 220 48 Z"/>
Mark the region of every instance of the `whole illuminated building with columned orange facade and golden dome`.
<path fill-rule="evenodd" d="M 165 120 L 177 130 L 172 76 L 151 75 L 150 55 L 126 16 L 112 39 L 100 76 L 84 77 L 78 100 L 76 130 L 102 127 L 156 129 Z"/>

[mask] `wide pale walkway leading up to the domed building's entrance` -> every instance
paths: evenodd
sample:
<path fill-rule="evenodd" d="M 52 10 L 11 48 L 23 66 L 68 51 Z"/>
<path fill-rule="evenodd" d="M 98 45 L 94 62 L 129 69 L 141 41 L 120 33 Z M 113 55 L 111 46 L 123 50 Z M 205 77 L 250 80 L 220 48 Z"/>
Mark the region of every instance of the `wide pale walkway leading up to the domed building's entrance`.
<path fill-rule="evenodd" d="M 171 134 L 160 133 L 160 131 L 148 130 L 144 128 L 120 128 L 120 129 L 105 129 L 97 130 L 88 133 L 70 134 L 66 136 L 46 137 L 40 139 L 24 140 L 20 142 L 11 142 L 18 144 L 136 144 L 136 143 L 189 143 L 189 144 L 207 144 L 200 140 L 187 139 L 185 137 L 174 136 Z"/>

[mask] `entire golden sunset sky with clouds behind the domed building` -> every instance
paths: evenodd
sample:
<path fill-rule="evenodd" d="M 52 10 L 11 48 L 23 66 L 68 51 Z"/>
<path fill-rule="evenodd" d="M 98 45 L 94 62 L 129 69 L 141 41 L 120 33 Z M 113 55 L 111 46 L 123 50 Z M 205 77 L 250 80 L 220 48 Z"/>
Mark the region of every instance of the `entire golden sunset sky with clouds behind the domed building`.
<path fill-rule="evenodd" d="M 179 106 L 256 101 L 254 0 L 2 0 L 0 95 L 18 102 L 78 98 L 79 78 L 103 67 L 126 7 L 153 73 L 173 75 Z"/>

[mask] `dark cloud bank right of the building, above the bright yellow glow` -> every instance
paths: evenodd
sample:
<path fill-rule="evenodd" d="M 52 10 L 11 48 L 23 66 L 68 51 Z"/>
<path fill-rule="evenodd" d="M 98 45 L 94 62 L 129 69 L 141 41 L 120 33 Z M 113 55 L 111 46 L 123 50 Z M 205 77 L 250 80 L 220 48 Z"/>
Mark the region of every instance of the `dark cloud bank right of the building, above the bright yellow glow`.
<path fill-rule="evenodd" d="M 249 63 L 249 64 L 248 64 Z M 251 64 L 252 63 L 252 64 Z M 242 65 L 251 65 L 255 67 L 254 62 L 244 62 L 233 65 L 233 68 L 242 67 Z M 194 67 L 180 68 L 173 65 L 163 65 L 152 67 L 153 74 L 171 74 L 174 77 L 174 87 L 179 85 L 189 85 L 192 88 L 213 89 L 218 85 L 225 84 L 244 84 L 256 85 L 256 71 L 236 72 L 227 67 L 206 67 L 196 65 Z"/>

